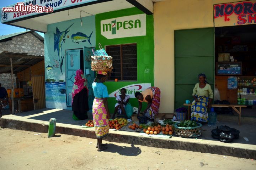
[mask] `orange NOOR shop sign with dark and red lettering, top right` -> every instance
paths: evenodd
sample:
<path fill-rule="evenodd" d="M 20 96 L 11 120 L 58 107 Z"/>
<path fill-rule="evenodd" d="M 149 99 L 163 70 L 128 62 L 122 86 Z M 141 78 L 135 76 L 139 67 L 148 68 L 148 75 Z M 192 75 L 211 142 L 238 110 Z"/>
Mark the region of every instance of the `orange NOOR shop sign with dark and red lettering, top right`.
<path fill-rule="evenodd" d="M 256 23 L 256 0 L 214 5 L 214 26 L 238 26 Z"/>

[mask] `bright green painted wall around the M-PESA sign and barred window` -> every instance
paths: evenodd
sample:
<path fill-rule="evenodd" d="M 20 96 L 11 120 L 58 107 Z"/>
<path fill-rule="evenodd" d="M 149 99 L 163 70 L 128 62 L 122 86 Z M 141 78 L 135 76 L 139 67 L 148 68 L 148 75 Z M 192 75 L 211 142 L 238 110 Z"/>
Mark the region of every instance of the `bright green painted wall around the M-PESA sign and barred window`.
<path fill-rule="evenodd" d="M 101 21 L 105 19 L 131 16 L 143 14 L 142 11 L 137 8 L 129 8 L 125 10 L 112 11 L 101 13 L 95 16 L 96 24 L 96 50 L 98 43 L 101 43 L 102 47 L 108 45 L 119 45 L 119 44 L 130 44 L 137 43 L 137 81 L 107 81 L 105 85 L 108 88 L 108 93 L 111 94 L 113 91 L 136 83 L 151 83 L 154 86 L 154 20 L 153 15 L 146 15 L 146 36 L 133 36 L 127 38 L 116 38 L 107 39 L 101 35 Z M 147 70 L 147 71 L 145 71 Z M 116 100 L 114 97 L 108 99 L 110 113 L 114 112 L 114 105 Z M 138 107 L 138 101 L 136 98 L 130 98 L 130 103 L 134 107 Z M 144 103 L 143 107 L 146 104 Z"/>

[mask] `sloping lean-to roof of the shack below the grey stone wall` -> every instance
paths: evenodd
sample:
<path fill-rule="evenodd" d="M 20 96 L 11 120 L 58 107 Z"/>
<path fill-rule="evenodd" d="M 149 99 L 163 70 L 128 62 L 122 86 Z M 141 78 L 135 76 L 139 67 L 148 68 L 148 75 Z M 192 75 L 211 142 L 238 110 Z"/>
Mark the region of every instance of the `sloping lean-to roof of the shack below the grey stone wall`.
<path fill-rule="evenodd" d="M 11 73 L 10 58 L 12 58 L 12 70 L 14 73 L 21 72 L 44 60 L 42 55 L 4 51 L 0 53 L 0 73 Z"/>

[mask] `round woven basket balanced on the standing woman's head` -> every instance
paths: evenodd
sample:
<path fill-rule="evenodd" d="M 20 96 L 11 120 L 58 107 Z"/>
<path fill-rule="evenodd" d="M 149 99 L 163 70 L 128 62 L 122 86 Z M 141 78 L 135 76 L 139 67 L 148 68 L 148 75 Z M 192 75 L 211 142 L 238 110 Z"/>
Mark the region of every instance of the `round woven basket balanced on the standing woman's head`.
<path fill-rule="evenodd" d="M 112 57 L 111 56 L 91 56 L 91 69 L 93 71 L 108 71 L 111 72 Z"/>

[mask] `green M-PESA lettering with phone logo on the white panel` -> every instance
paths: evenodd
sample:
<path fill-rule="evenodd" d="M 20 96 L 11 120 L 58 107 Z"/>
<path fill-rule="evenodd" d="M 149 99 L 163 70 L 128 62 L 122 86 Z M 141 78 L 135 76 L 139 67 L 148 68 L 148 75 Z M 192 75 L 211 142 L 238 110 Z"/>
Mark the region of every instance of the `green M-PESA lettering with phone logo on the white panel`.
<path fill-rule="evenodd" d="M 135 21 L 129 20 L 124 22 L 117 22 L 116 19 L 114 21 L 111 21 L 109 24 L 103 24 L 103 32 L 105 31 L 112 31 L 112 34 L 116 34 L 116 31 L 120 28 L 123 29 L 133 29 L 133 28 L 140 28 L 141 27 L 141 21 L 139 19 L 136 19 Z"/>

